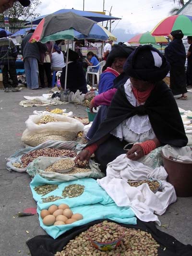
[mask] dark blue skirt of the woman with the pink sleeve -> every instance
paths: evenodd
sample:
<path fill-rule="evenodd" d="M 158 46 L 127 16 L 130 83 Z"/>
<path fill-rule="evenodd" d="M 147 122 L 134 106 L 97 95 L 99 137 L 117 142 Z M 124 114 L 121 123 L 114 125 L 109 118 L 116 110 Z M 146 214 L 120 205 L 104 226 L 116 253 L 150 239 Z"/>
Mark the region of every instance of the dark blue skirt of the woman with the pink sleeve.
<path fill-rule="evenodd" d="M 96 130 L 99 127 L 99 124 L 106 119 L 107 113 L 108 113 L 108 106 L 101 105 L 101 107 L 99 108 L 99 110 L 96 114 L 96 117 L 91 125 L 91 128 L 89 129 L 88 133 L 86 134 L 87 139 L 89 139 L 89 140 L 92 139 L 93 135 L 96 133 Z"/>

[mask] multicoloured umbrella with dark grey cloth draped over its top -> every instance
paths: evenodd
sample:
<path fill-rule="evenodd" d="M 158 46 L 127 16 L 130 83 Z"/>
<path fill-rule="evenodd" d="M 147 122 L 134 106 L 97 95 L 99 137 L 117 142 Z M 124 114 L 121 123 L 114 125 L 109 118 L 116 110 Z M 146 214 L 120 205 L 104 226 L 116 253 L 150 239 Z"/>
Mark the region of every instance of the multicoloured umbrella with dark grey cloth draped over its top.
<path fill-rule="evenodd" d="M 108 34 L 96 22 L 73 12 L 50 14 L 36 27 L 30 42 L 56 41 L 60 39 L 107 40 Z"/>

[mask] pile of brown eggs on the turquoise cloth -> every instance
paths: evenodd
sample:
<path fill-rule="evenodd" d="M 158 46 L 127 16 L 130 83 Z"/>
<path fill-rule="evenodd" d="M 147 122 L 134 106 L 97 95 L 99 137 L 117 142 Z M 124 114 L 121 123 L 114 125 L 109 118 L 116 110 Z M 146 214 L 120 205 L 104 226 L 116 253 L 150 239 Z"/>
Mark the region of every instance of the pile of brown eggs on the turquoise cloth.
<path fill-rule="evenodd" d="M 80 213 L 73 214 L 70 207 L 66 204 L 52 205 L 48 210 L 42 210 L 40 216 L 43 219 L 43 224 L 46 226 L 72 224 L 84 218 Z"/>

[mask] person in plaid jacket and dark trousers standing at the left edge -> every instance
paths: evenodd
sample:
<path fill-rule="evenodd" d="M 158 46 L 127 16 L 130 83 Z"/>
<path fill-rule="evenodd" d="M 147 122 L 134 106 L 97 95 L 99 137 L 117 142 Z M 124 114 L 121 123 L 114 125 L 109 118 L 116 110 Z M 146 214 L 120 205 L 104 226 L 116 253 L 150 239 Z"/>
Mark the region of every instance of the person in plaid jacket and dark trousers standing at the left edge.
<path fill-rule="evenodd" d="M 2 70 L 3 76 L 3 85 L 5 92 L 9 92 L 12 89 L 12 92 L 20 91 L 17 87 L 17 73 L 15 67 L 15 60 L 17 58 L 17 48 L 11 39 L 7 38 L 7 33 L 5 30 L 0 31 L 0 67 Z M 9 80 L 9 75 L 12 80 L 12 83 Z"/>

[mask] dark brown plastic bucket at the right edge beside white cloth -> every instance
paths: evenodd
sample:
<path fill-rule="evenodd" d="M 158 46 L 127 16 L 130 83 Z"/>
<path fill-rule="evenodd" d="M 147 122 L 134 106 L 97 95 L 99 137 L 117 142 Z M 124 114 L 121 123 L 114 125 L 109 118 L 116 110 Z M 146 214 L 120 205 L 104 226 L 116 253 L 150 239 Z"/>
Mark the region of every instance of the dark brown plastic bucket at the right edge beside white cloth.
<path fill-rule="evenodd" d="M 168 173 L 167 181 L 174 186 L 177 196 L 192 196 L 192 163 L 179 162 L 161 154 L 164 168 Z"/>

